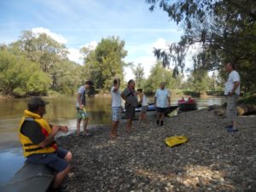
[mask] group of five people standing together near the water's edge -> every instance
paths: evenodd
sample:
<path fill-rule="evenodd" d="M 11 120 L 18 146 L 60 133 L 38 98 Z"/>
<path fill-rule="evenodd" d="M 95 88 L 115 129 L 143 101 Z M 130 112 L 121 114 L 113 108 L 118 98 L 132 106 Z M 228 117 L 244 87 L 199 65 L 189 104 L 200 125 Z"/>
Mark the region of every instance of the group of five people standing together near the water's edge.
<path fill-rule="evenodd" d="M 77 120 L 77 135 L 80 134 L 80 122 L 84 120 L 84 136 L 90 136 L 87 131 L 88 124 L 88 113 L 85 109 L 85 94 L 86 90 L 90 89 L 92 86 L 91 81 L 87 81 L 83 86 L 79 88 L 77 96 L 77 110 L 78 110 L 78 120 Z M 125 119 L 127 119 L 125 131 L 127 133 L 131 132 L 132 120 L 135 117 L 135 112 L 137 105 L 141 106 L 141 113 L 139 115 L 139 121 L 145 121 L 148 123 L 147 110 L 148 110 L 148 99 L 143 93 L 143 89 L 135 90 L 135 81 L 133 79 L 129 80 L 125 90 L 120 91 L 120 79 L 113 79 L 113 86 L 110 90 L 111 92 L 111 108 L 112 108 L 112 125 L 110 131 L 110 137 L 116 138 L 119 120 L 122 119 L 122 99 L 125 101 Z M 139 98 L 139 99 L 138 99 Z M 160 83 L 160 89 L 156 90 L 154 103 L 156 107 L 157 115 L 157 125 L 164 125 L 164 119 L 166 115 L 166 108 L 171 105 L 171 95 L 170 91 L 166 90 L 165 83 Z"/>

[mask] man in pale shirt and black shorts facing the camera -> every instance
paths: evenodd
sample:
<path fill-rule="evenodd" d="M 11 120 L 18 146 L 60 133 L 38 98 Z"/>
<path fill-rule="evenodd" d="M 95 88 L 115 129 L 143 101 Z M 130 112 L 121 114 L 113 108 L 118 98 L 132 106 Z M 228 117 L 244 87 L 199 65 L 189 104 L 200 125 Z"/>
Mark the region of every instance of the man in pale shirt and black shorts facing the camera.
<path fill-rule="evenodd" d="M 171 106 L 170 91 L 166 90 L 165 86 L 166 84 L 164 82 L 160 83 L 160 89 L 156 90 L 154 96 L 154 104 L 157 111 L 156 124 L 160 126 L 164 125 L 166 108 Z"/>

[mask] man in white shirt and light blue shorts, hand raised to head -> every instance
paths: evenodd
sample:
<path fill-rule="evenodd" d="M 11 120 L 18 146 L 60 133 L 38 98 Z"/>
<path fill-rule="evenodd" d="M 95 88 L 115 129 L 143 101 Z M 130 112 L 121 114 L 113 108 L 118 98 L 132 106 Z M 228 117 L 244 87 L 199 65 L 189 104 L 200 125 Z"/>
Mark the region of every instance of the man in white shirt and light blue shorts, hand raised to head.
<path fill-rule="evenodd" d="M 113 80 L 113 87 L 111 88 L 111 100 L 112 100 L 112 127 L 110 131 L 110 137 L 117 137 L 117 129 L 119 126 L 119 119 L 121 119 L 122 105 L 121 105 L 121 93 L 119 90 L 120 79 Z"/>

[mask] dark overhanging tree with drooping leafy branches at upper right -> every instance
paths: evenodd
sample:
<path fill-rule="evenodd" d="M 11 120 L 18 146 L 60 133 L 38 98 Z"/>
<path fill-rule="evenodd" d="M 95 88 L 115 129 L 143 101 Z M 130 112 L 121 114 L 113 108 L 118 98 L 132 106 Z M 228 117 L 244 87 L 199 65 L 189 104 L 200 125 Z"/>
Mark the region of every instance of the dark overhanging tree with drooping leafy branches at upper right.
<path fill-rule="evenodd" d="M 146 0 L 154 10 L 159 3 L 169 17 L 184 28 L 178 46 L 186 51 L 200 44 L 199 67 L 221 70 L 227 62 L 236 64 L 246 90 L 255 88 L 256 2 L 254 0 L 166 1 Z M 175 52 L 172 52 L 175 54 Z M 178 55 L 177 55 L 178 57 Z M 178 61 L 178 60 L 177 60 Z M 178 61 L 177 67 L 183 67 Z M 250 74 L 247 71 L 250 70 Z"/>

